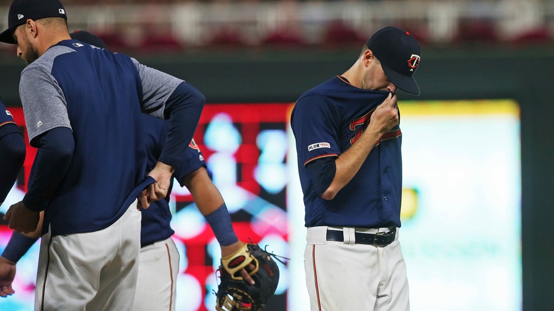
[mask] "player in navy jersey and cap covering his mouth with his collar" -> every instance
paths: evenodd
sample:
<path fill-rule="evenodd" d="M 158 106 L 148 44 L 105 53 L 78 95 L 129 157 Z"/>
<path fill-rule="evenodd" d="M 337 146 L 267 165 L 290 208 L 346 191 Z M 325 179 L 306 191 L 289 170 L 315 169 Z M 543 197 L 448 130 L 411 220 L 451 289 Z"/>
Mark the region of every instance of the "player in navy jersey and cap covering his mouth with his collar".
<path fill-rule="evenodd" d="M 386 27 L 344 74 L 305 92 L 291 116 L 304 193 L 312 311 L 409 310 L 398 242 L 402 132 L 397 89 L 419 95 L 421 50 Z"/>

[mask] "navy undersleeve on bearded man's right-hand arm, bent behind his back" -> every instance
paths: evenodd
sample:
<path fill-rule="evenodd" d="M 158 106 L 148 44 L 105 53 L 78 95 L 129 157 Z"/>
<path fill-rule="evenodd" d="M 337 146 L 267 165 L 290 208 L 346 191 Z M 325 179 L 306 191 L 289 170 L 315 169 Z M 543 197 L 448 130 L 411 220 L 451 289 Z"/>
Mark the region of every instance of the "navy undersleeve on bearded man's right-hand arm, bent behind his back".
<path fill-rule="evenodd" d="M 165 115 L 169 116 L 167 141 L 160 162 L 178 167 L 200 120 L 206 99 L 193 86 L 182 83 L 167 100 Z"/>

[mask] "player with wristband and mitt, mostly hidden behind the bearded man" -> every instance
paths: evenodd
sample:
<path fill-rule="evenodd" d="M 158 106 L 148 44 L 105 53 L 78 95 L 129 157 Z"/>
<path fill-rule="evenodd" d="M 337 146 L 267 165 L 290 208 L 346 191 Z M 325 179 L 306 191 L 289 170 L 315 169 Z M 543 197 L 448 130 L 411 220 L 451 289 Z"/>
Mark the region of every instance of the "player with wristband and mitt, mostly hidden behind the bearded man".
<path fill-rule="evenodd" d="M 71 38 L 98 48 L 106 48 L 104 42 L 88 32 L 79 31 L 70 34 Z M 146 132 L 146 150 L 148 155 L 147 171 L 155 167 L 167 137 L 168 123 L 158 118 L 142 115 Z M 187 186 L 198 209 L 206 216 L 216 238 L 222 245 L 222 256 L 229 256 L 238 250 L 243 242 L 238 241 L 230 223 L 230 216 L 223 198 L 209 178 L 202 152 L 194 141 L 183 155 L 181 167 L 173 177 L 181 186 Z M 165 199 L 153 201 L 150 207 L 142 211 L 141 251 L 139 256 L 139 277 L 136 282 L 136 294 L 133 310 L 175 310 L 176 281 L 179 269 L 179 253 L 171 239 L 175 233 L 170 227 L 171 212 L 169 199 L 172 182 Z M 14 233 L 14 236 L 17 234 Z M 15 263 L 27 252 L 39 235 L 30 234 L 28 240 L 12 239 L 0 257 L 0 284 L 6 283 L 11 289 L 15 276 Z M 248 282 L 252 278 L 243 269 L 241 275 Z M 130 284 L 135 286 L 135 284 Z M 10 293 L 13 293 L 11 289 Z M 2 295 L 0 291 L 0 296 Z"/>

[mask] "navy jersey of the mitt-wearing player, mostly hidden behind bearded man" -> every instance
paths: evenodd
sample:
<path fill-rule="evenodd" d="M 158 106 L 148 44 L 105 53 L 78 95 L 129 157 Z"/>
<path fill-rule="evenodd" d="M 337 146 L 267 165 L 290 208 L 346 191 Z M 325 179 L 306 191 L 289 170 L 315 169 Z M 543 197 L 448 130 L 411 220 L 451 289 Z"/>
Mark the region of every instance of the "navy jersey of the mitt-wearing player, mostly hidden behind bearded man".
<path fill-rule="evenodd" d="M 148 153 L 146 171 L 150 172 L 156 166 L 158 158 L 160 158 L 160 154 L 162 153 L 163 145 L 167 138 L 168 123 L 151 116 L 143 116 L 143 124 L 146 131 L 146 149 Z M 204 162 L 202 152 L 193 140 L 183 155 L 181 167 L 175 170 L 173 177 L 177 179 L 181 186 L 184 186 L 184 177 L 201 167 L 206 167 L 206 162 Z M 171 179 L 171 185 L 167 192 L 167 196 L 163 200 L 153 201 L 148 209 L 142 210 L 142 246 L 165 240 L 175 233 L 170 227 L 171 211 L 169 201 L 172 186 L 173 179 Z"/>

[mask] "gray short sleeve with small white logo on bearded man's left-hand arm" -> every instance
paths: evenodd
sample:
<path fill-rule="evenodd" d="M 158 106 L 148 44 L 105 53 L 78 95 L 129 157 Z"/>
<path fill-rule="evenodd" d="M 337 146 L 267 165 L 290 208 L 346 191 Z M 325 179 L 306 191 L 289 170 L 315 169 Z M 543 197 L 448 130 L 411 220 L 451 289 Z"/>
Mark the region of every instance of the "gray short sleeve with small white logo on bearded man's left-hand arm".
<path fill-rule="evenodd" d="M 19 96 L 29 141 L 56 127 L 71 129 L 63 91 L 49 72 L 29 67 L 23 70 Z"/>

